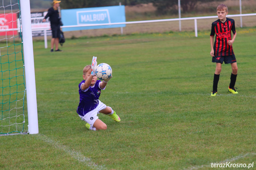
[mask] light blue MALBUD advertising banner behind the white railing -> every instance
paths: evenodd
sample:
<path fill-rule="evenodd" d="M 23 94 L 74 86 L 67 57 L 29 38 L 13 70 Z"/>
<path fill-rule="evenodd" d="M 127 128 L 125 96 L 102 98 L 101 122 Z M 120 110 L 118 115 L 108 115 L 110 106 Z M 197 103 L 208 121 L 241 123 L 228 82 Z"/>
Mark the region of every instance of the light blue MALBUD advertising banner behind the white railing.
<path fill-rule="evenodd" d="M 121 5 L 121 6 L 111 6 L 111 7 L 62 9 L 61 20 L 62 20 L 63 26 L 126 22 L 125 6 Z M 116 28 L 116 27 L 125 27 L 125 26 L 126 26 L 125 24 L 120 24 L 120 25 L 102 25 L 102 26 L 88 26 L 88 27 L 71 27 L 71 28 L 62 28 L 62 31 L 91 30 L 91 29 Z"/>

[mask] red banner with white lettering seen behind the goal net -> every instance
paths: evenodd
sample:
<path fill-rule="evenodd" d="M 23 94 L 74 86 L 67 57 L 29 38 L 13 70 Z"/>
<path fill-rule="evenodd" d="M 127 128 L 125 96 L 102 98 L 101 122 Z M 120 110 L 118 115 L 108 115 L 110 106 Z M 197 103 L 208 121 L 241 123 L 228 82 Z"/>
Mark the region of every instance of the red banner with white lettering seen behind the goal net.
<path fill-rule="evenodd" d="M 17 30 L 14 31 L 13 28 L 17 28 L 16 14 L 0 14 L 0 36 L 17 35 Z"/>

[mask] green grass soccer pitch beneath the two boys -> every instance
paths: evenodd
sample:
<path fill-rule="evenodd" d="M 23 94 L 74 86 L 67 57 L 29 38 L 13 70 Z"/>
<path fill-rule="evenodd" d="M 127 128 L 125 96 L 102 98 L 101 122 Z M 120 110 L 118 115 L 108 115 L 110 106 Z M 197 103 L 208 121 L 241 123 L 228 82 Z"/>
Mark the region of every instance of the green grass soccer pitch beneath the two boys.
<path fill-rule="evenodd" d="M 67 39 L 53 53 L 34 42 L 39 134 L 1 136 L 0 169 L 188 170 L 226 162 L 255 169 L 256 29 L 237 29 L 237 95 L 228 92 L 231 67 L 223 64 L 210 96 L 209 34 Z M 82 69 L 93 56 L 113 69 L 100 100 L 121 118 L 100 114 L 108 129 L 97 132 L 76 113 Z"/>

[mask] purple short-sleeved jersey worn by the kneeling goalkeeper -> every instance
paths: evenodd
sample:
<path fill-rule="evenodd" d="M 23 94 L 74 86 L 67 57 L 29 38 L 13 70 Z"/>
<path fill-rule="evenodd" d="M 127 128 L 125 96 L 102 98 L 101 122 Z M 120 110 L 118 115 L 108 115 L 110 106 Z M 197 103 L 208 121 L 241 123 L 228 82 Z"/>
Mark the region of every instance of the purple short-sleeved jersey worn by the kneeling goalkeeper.
<path fill-rule="evenodd" d="M 89 111 L 95 109 L 98 106 L 98 100 L 101 95 L 100 88 L 100 80 L 97 80 L 94 86 L 90 86 L 85 90 L 81 89 L 82 84 L 85 83 L 85 80 L 82 80 L 79 84 L 79 95 L 80 95 L 80 102 L 77 107 L 77 113 L 81 116 L 85 116 Z"/>

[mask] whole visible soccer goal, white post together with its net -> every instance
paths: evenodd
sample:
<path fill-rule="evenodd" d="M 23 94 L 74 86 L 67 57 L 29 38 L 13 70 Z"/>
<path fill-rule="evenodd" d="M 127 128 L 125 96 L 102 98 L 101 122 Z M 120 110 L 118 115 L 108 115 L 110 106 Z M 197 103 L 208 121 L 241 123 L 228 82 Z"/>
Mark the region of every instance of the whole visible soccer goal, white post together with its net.
<path fill-rule="evenodd" d="M 0 56 L 0 136 L 37 134 L 39 130 L 29 0 L 0 1 Z M 25 100 L 27 115 L 24 114 Z M 28 130 L 24 129 L 25 125 L 28 125 Z"/>

